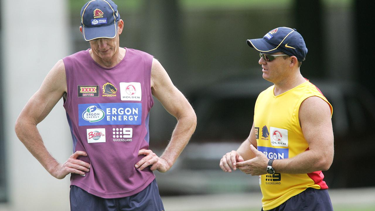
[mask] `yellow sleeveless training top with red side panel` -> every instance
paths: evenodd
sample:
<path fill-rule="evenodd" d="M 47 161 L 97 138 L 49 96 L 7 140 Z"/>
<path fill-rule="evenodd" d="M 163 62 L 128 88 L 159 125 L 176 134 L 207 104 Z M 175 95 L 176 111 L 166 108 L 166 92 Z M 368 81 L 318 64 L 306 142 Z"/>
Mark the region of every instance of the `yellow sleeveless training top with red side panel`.
<path fill-rule="evenodd" d="M 318 96 L 329 104 L 331 115 L 332 105 L 308 80 L 278 96 L 273 90 L 274 86 L 271 86 L 261 92 L 255 103 L 254 127 L 258 150 L 269 159 L 292 158 L 309 149 L 299 124 L 301 103 L 308 97 Z M 309 187 L 327 189 L 323 178 L 321 171 L 259 176 L 263 209 L 273 209 Z"/>

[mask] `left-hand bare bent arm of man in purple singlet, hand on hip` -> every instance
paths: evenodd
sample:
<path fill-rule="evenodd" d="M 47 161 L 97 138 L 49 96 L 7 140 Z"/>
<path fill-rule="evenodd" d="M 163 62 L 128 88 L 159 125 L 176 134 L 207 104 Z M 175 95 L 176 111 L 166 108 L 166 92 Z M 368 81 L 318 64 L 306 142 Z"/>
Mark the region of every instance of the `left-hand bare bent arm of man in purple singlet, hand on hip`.
<path fill-rule="evenodd" d="M 15 132 L 28 151 L 54 177 L 64 178 L 68 173 L 84 174 L 89 164 L 76 160 L 78 156 L 87 156 L 86 152 L 77 151 L 66 163 L 60 164 L 47 151 L 36 127 L 66 92 L 66 76 L 63 60 L 59 60 L 51 69 L 42 86 L 29 99 L 15 124 Z M 30 136 L 30 134 L 32 134 Z"/>

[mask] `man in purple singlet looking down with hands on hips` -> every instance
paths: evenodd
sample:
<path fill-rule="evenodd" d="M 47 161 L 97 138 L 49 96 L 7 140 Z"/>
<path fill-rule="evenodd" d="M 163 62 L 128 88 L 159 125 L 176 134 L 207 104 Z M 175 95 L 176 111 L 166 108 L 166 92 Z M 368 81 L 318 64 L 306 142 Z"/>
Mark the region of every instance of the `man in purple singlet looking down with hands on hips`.
<path fill-rule="evenodd" d="M 148 53 L 119 47 L 123 27 L 114 2 L 87 2 L 80 31 L 91 48 L 56 63 L 15 125 L 52 176 L 71 174 L 72 211 L 164 210 L 153 171 L 168 171 L 195 130 L 194 110 L 163 66 Z M 152 95 L 177 119 L 160 157 L 148 149 Z M 60 98 L 74 152 L 63 164 L 46 150 L 36 127 Z"/>

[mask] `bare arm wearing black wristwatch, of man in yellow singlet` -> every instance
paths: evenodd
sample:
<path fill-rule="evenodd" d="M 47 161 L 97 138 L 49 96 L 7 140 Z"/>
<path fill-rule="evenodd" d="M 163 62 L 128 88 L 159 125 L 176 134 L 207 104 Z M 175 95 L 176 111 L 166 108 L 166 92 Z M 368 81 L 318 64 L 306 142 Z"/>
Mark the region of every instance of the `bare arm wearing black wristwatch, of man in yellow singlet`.
<path fill-rule="evenodd" d="M 278 173 L 311 173 L 328 170 L 333 161 L 333 130 L 330 107 L 323 99 L 312 96 L 302 102 L 299 120 L 309 150 L 293 158 L 273 161 Z M 237 163 L 239 169 L 251 175 L 267 173 L 269 159 L 251 146 L 256 154 L 252 160 Z"/>

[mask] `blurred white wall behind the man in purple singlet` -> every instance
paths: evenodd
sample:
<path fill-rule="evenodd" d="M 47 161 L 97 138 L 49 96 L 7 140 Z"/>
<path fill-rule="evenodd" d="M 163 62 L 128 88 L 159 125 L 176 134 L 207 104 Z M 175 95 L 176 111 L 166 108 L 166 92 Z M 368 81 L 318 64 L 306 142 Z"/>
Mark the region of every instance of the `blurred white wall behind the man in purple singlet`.
<path fill-rule="evenodd" d="M 69 210 L 69 175 L 58 180 L 17 139 L 14 123 L 52 66 L 70 52 L 65 0 L 3 0 L 1 42 L 5 152 L 9 202 L 0 210 Z M 62 101 L 38 125 L 46 148 L 60 162 L 72 153 Z"/>

